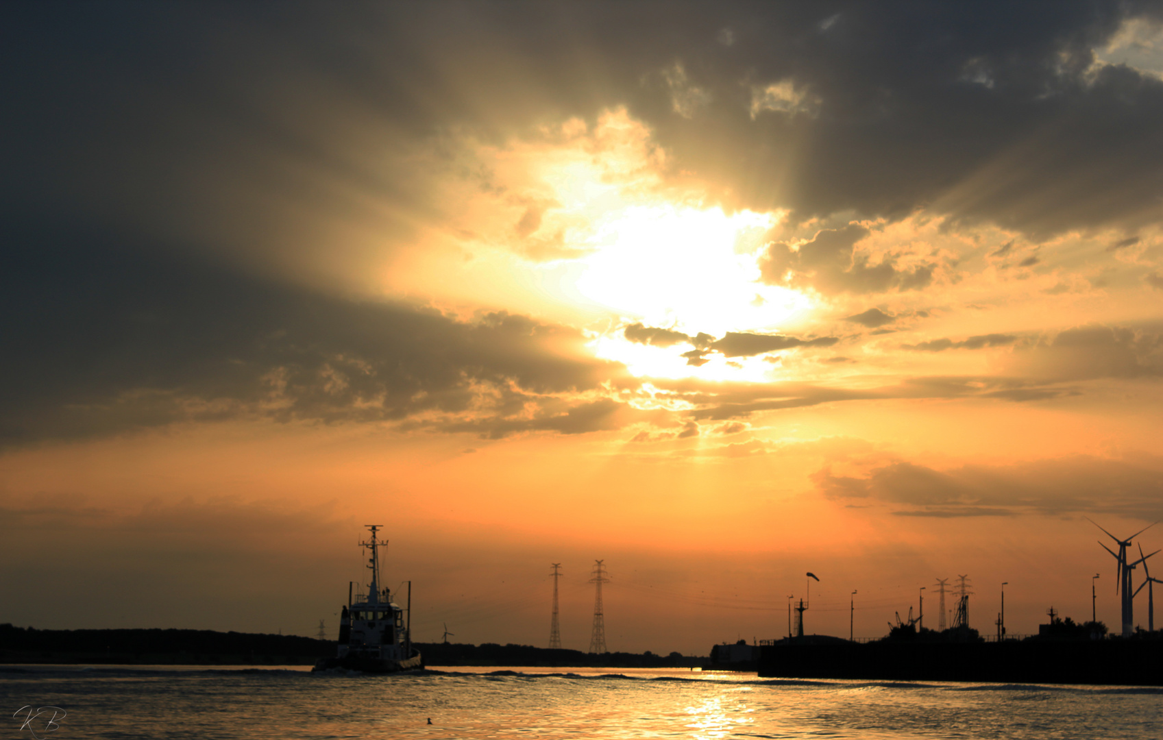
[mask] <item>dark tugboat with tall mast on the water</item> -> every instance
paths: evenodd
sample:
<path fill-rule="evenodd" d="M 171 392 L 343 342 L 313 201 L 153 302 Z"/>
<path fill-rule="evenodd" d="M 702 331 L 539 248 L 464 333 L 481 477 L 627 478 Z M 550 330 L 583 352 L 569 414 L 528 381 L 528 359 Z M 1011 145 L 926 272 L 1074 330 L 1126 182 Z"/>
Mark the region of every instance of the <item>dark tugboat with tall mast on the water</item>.
<path fill-rule="evenodd" d="M 412 582 L 408 582 L 407 610 L 392 600 L 387 589 L 379 583 L 379 548 L 387 541 L 379 541 L 376 533 L 383 525 L 365 525 L 371 538 L 359 546 L 370 550 L 368 568 L 371 583 L 368 596 L 351 600 L 351 584 L 348 584 L 348 605 L 340 616 L 340 645 L 335 657 L 323 657 L 312 668 L 329 670 L 342 668 L 369 674 L 390 674 L 401 670 L 418 670 L 424 667 L 420 650 L 412 647 Z M 408 618 L 405 622 L 404 613 Z"/>

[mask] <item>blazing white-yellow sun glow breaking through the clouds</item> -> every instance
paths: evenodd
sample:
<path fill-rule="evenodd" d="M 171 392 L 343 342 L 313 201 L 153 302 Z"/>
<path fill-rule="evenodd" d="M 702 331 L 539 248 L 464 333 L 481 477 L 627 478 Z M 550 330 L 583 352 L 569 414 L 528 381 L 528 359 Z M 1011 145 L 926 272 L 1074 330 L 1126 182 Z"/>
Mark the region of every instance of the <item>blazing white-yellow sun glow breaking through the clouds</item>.
<path fill-rule="evenodd" d="M 471 262 L 434 263 L 433 283 L 447 289 L 461 276 L 459 294 L 481 303 L 500 296 L 512 306 L 525 296 L 538 312 L 554 305 L 599 334 L 599 356 L 638 376 L 762 380 L 779 372 L 776 357 L 711 354 L 691 364 L 683 357 L 691 343 L 634 343 L 623 330 L 641 322 L 719 339 L 800 323 L 813 300 L 763 284 L 757 265 L 785 214 L 705 207 L 702 186 L 669 179 L 666 154 L 625 109 L 543 134 L 505 147 L 470 142 L 468 171 L 490 173 L 490 187 L 466 182 L 448 200 L 463 204 L 457 235 Z"/>

